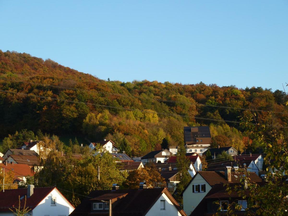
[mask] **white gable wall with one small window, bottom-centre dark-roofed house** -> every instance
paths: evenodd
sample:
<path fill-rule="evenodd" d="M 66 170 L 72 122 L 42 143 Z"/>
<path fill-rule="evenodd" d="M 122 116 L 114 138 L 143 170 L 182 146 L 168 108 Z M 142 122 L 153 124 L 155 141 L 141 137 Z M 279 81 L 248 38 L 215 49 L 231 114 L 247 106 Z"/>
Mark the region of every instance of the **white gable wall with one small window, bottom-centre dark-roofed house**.
<path fill-rule="evenodd" d="M 165 200 L 165 210 L 160 210 L 160 202 Z M 162 194 L 160 198 L 155 202 L 151 209 L 147 212 L 145 216 L 181 216 L 176 206 L 170 201 L 166 194 Z"/>

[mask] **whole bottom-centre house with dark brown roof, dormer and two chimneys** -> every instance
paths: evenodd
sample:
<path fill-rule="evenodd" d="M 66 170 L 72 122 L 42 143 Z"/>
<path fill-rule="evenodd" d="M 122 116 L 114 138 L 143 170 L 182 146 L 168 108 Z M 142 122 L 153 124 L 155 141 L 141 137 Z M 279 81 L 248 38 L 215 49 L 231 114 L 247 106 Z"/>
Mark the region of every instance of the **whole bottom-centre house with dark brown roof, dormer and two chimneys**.
<path fill-rule="evenodd" d="M 111 202 L 111 210 L 109 209 Z M 113 216 L 175 216 L 186 215 L 166 188 L 119 190 L 114 184 L 112 190 L 95 190 L 82 200 L 71 216 L 108 215 Z"/>

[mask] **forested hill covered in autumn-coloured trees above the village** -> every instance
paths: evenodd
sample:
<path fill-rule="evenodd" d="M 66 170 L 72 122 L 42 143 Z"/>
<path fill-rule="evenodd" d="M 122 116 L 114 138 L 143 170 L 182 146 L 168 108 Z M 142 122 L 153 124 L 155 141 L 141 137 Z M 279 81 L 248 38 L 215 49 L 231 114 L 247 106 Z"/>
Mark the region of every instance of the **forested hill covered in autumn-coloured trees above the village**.
<path fill-rule="evenodd" d="M 272 111 L 272 119 L 267 112 L 256 112 L 257 122 L 276 126 L 288 122 L 287 96 L 280 90 L 202 82 L 105 81 L 50 59 L 9 51 L 0 51 L 0 62 L 0 77 L 5 78 L 0 80 L 0 90 L 44 97 L 0 92 L 0 138 L 24 128 L 56 135 L 83 134 L 91 141 L 113 139 L 120 149 L 140 156 L 160 149 L 161 143 L 162 147 L 182 144 L 184 126 L 209 125 L 214 145 L 233 145 L 242 151 L 245 145 L 257 147 L 253 134 L 237 123 L 198 118 L 238 122 L 238 116 L 249 111 L 226 108 L 235 107 Z"/>

